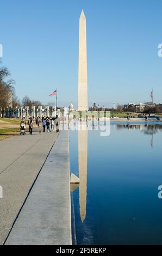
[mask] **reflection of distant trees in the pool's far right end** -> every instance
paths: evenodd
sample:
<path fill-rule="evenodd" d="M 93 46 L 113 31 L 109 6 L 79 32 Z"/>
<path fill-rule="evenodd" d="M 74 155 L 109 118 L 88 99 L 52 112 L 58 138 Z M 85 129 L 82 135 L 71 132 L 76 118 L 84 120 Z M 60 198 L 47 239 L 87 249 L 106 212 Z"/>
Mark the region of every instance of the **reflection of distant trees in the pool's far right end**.
<path fill-rule="evenodd" d="M 162 125 L 160 124 L 117 124 L 117 130 L 128 129 L 128 130 L 141 130 L 146 135 L 152 135 L 159 131 L 162 132 Z"/>

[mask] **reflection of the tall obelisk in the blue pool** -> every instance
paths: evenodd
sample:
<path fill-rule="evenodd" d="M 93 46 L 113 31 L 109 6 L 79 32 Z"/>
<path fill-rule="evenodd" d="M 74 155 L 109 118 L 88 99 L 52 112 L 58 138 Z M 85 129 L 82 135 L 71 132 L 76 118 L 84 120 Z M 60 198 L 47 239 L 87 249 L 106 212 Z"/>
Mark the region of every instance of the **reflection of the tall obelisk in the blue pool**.
<path fill-rule="evenodd" d="M 87 150 L 88 130 L 78 131 L 78 166 L 79 166 L 79 206 L 82 222 L 86 216 L 86 183 L 87 183 Z"/>

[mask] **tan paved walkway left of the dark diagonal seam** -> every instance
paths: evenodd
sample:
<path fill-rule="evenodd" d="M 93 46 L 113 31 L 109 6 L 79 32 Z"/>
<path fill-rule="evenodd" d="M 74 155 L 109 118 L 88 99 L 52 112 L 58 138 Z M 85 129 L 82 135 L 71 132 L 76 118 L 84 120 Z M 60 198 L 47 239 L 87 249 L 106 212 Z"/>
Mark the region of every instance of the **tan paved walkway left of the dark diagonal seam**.
<path fill-rule="evenodd" d="M 2 245 L 18 211 L 38 175 L 58 134 L 13 136 L 0 142 L 0 244 Z"/>

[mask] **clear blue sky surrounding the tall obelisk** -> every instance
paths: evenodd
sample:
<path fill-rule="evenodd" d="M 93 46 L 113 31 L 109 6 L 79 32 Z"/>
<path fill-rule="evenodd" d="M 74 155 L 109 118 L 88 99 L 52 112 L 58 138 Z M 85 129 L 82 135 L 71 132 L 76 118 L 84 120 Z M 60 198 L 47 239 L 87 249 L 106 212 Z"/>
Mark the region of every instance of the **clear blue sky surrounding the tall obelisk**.
<path fill-rule="evenodd" d="M 20 99 L 77 103 L 79 16 L 87 26 L 88 92 L 92 102 L 162 102 L 160 0 L 1 0 L 3 65 Z M 54 98 L 53 98 L 54 100 Z"/>

